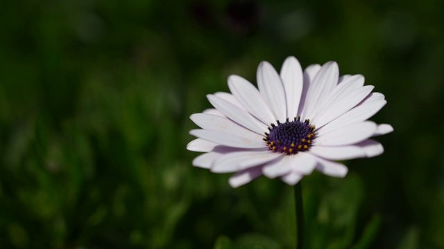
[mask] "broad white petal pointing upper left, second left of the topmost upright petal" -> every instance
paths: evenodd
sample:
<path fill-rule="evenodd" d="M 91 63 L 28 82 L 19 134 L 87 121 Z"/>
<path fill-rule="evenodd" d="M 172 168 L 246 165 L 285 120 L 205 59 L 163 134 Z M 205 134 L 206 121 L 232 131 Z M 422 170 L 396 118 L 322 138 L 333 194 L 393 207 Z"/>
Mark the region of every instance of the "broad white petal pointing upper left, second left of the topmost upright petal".
<path fill-rule="evenodd" d="M 228 87 L 244 108 L 257 119 L 269 125 L 275 122 L 275 117 L 259 91 L 243 77 L 231 75 L 228 77 Z"/>

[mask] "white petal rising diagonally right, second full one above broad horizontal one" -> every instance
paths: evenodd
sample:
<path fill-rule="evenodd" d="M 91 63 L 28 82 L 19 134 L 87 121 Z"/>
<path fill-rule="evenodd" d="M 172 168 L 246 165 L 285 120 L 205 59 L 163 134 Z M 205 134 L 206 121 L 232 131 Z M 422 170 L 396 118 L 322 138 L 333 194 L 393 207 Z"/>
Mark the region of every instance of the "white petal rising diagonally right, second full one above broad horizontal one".
<path fill-rule="evenodd" d="M 364 100 L 366 96 L 373 90 L 374 86 L 362 86 L 359 89 L 355 89 L 344 98 L 334 102 L 327 107 L 324 111 L 321 112 L 319 118 L 316 121 L 313 121 L 314 124 L 318 127 L 322 127 L 323 125 L 331 122 L 335 118 L 338 118 L 343 113 L 349 111 L 353 107 L 356 107 L 359 102 Z"/>

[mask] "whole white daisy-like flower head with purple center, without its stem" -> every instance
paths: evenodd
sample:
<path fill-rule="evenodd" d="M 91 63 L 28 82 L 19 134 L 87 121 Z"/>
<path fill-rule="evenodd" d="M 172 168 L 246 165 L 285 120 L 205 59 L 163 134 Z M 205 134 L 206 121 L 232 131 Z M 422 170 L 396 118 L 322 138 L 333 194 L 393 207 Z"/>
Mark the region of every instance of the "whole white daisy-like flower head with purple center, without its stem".
<path fill-rule="evenodd" d="M 390 124 L 368 121 L 386 104 L 382 93 L 364 86 L 362 75 L 339 77 L 336 62 L 302 71 L 288 57 L 280 73 L 268 62 L 257 68 L 257 86 L 237 75 L 228 77 L 231 93 L 207 95 L 215 109 L 190 116 L 202 129 L 187 149 L 205 152 L 193 165 L 214 173 L 236 172 L 239 187 L 261 176 L 295 185 L 314 169 L 344 177 L 336 162 L 378 156 L 382 145 L 371 139 L 393 131 Z"/>

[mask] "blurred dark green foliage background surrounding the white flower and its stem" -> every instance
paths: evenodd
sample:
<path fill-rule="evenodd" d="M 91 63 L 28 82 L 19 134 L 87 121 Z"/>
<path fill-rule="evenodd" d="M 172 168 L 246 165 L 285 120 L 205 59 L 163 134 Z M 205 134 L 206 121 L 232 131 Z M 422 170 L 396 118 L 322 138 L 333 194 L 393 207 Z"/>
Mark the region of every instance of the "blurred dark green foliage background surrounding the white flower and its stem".
<path fill-rule="evenodd" d="M 307 248 L 444 248 L 444 2 L 2 1 L 0 248 L 293 248 L 293 190 L 194 168 L 191 113 L 262 60 L 339 63 L 382 156 L 302 181 Z"/>

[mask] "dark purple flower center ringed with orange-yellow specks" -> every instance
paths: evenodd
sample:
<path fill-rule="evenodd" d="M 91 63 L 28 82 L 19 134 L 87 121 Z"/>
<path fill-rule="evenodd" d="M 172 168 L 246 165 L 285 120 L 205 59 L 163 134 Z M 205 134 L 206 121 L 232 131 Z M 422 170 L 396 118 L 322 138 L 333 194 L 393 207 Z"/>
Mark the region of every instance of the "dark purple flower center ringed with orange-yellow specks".
<path fill-rule="evenodd" d="M 265 133 L 264 141 L 268 148 L 275 152 L 296 154 L 299 151 L 310 149 L 315 138 L 314 125 L 310 120 L 300 121 L 300 117 L 294 118 L 294 121 L 287 121 L 278 125 L 271 124 L 268 127 L 270 133 Z"/>

